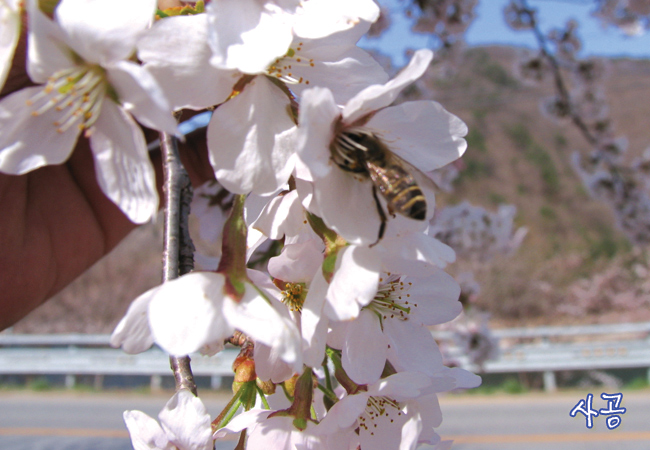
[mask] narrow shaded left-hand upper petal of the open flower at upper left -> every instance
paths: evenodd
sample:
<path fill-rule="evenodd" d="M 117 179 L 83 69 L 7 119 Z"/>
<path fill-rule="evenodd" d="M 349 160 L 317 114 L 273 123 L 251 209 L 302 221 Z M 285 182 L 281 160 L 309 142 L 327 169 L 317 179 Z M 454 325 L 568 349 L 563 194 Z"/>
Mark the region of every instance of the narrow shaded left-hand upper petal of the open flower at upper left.
<path fill-rule="evenodd" d="M 45 83 L 53 73 L 75 63 L 61 28 L 43 14 L 38 1 L 28 1 L 27 11 L 27 73 L 34 83 Z"/>

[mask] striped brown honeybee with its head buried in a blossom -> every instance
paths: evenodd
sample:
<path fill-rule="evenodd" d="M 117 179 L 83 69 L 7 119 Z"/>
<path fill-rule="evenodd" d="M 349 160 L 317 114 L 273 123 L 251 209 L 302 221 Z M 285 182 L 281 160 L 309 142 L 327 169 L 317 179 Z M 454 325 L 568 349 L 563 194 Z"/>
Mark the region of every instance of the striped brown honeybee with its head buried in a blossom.
<path fill-rule="evenodd" d="M 386 200 L 392 216 L 398 213 L 410 219 L 425 220 L 427 201 L 418 182 L 432 187 L 433 181 L 391 152 L 376 134 L 361 127 L 340 131 L 330 151 L 332 160 L 341 169 L 372 181 L 372 194 L 381 220 L 377 241 L 372 245 L 384 236 L 387 222 L 377 190 Z"/>

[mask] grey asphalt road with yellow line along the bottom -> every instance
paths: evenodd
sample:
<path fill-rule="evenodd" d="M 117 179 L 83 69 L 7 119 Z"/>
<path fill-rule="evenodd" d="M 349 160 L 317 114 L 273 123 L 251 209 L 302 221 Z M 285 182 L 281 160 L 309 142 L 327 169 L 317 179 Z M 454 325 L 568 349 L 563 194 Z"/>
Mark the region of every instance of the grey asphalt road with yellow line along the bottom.
<path fill-rule="evenodd" d="M 593 391 L 593 408 L 607 407 Z M 454 439 L 456 450 L 648 450 L 650 393 L 623 392 L 621 425 L 609 430 L 602 415 L 587 429 L 585 417 L 569 412 L 585 393 L 441 398 L 439 433 Z M 165 395 L 0 393 L 1 450 L 129 450 L 122 412 L 139 409 L 156 417 Z M 208 395 L 212 416 L 227 397 Z M 217 450 L 232 450 L 221 442 Z"/>

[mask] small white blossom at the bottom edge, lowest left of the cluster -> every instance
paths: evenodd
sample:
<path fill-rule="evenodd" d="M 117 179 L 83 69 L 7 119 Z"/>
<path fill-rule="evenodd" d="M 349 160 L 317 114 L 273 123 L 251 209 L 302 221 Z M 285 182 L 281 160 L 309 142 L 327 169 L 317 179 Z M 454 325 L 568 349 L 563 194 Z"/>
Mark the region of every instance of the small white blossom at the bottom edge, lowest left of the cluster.
<path fill-rule="evenodd" d="M 135 450 L 211 450 L 210 415 L 201 400 L 186 389 L 176 392 L 158 415 L 160 424 L 142 411 L 125 411 Z"/>

